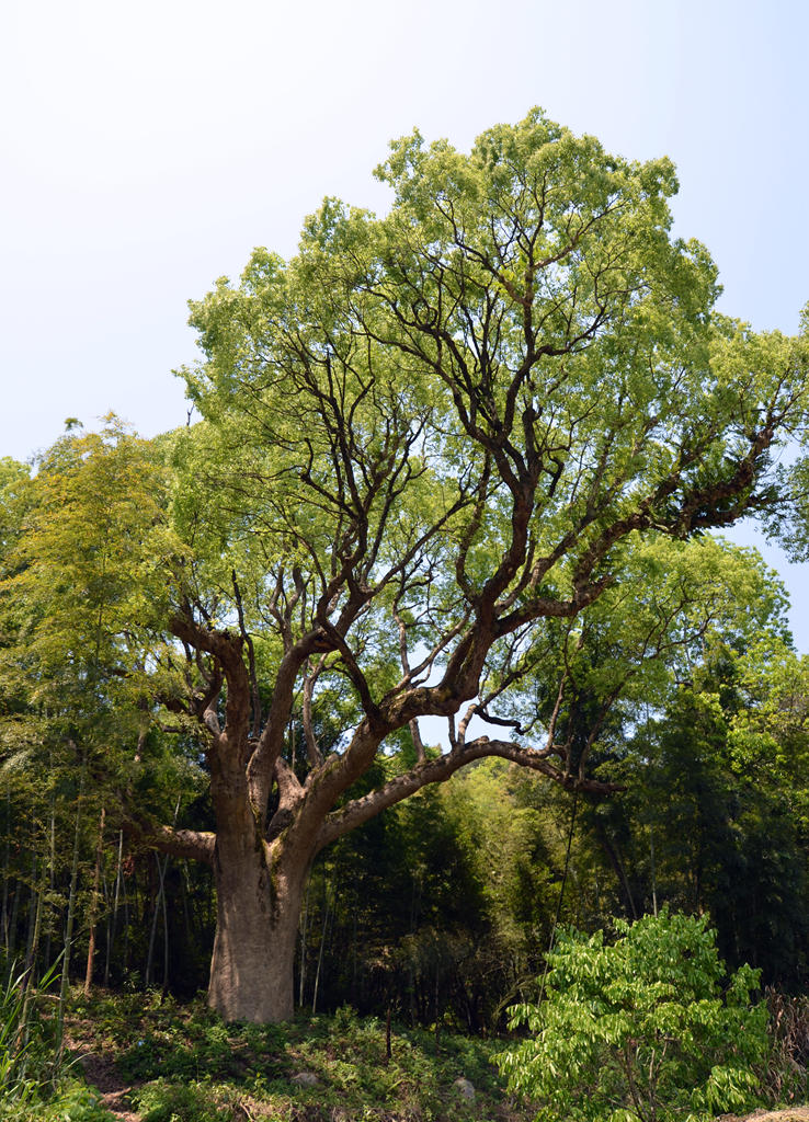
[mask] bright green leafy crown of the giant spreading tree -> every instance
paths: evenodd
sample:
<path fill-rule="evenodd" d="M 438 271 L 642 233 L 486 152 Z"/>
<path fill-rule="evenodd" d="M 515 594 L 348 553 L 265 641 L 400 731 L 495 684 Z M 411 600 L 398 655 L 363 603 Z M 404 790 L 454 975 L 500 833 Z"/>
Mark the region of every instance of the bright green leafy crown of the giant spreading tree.
<path fill-rule="evenodd" d="M 257 249 L 191 304 L 203 420 L 176 441 L 173 502 L 189 611 L 204 635 L 243 607 L 270 680 L 293 636 L 339 619 L 300 677 L 347 728 L 371 702 L 399 712 L 398 633 L 433 652 L 424 680 L 450 665 L 451 693 L 468 672 L 463 697 L 532 747 L 561 687 L 595 698 L 566 697 L 586 741 L 619 696 L 658 703 L 659 656 L 682 664 L 737 595 L 732 551 L 681 540 L 772 502 L 806 341 L 716 314 L 707 251 L 671 238 L 668 159 L 533 110 L 469 154 L 402 138 L 377 174 L 385 218 L 325 200 L 297 257 Z"/>

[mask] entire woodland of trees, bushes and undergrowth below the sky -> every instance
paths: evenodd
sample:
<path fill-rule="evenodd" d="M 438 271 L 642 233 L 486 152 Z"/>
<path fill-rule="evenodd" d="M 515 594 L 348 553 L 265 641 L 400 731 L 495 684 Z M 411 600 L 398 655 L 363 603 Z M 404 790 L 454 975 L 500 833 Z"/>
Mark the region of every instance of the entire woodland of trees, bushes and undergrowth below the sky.
<path fill-rule="evenodd" d="M 376 174 L 191 302 L 187 425 L 0 460 L 2 1116 L 803 1103 L 809 657 L 723 531 L 806 554 L 809 311 L 540 111 Z"/>

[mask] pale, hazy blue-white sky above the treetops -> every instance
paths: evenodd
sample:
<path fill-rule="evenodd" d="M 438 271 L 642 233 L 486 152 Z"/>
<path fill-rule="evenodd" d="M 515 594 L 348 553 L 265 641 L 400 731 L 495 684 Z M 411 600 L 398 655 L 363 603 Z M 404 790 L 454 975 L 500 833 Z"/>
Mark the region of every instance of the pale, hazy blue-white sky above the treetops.
<path fill-rule="evenodd" d="M 805 0 L 4 0 L 0 454 L 109 410 L 182 424 L 185 302 L 294 251 L 325 194 L 375 209 L 387 141 L 468 147 L 531 105 L 670 155 L 677 232 L 721 307 L 793 332 L 809 301 Z M 809 567 L 767 553 L 809 650 Z"/>

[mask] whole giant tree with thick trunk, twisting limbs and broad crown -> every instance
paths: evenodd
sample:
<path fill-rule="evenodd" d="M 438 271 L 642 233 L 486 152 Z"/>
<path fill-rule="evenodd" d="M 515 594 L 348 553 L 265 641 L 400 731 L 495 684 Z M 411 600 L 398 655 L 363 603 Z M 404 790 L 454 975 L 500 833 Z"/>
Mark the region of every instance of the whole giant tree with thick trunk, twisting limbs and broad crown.
<path fill-rule="evenodd" d="M 171 629 L 217 829 L 155 843 L 213 864 L 231 1019 L 291 1015 L 306 873 L 347 830 L 481 756 L 598 789 L 614 691 L 573 696 L 579 618 L 655 607 L 644 539 L 770 508 L 805 420 L 806 337 L 716 313 L 668 159 L 533 112 L 469 155 L 407 137 L 378 175 L 386 217 L 328 200 L 293 260 L 257 250 L 192 305 Z"/>

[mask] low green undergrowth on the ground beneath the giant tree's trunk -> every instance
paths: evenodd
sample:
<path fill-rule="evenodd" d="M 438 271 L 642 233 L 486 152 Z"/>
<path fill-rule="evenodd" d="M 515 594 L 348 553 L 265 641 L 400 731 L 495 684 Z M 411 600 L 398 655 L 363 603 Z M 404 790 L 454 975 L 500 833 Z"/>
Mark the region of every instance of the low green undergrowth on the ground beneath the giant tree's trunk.
<path fill-rule="evenodd" d="M 202 1001 L 98 994 L 73 1006 L 74 1047 L 114 1061 L 143 1122 L 523 1122 L 496 1041 L 392 1030 L 351 1010 L 283 1026 L 224 1024 Z M 309 1073 L 313 1086 L 295 1075 Z M 471 1082 L 467 1102 L 456 1080 Z"/>

